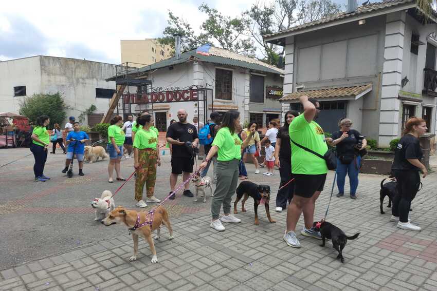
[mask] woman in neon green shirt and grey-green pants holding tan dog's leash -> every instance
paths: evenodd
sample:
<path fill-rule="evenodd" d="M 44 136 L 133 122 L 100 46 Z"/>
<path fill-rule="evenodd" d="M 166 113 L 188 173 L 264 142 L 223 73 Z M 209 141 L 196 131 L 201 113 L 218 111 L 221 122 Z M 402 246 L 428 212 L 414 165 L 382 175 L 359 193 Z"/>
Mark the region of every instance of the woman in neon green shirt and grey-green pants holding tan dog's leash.
<path fill-rule="evenodd" d="M 240 125 L 240 112 L 230 110 L 223 116 L 222 126 L 215 134 L 212 147 L 208 152 L 205 161 L 199 166 L 202 171 L 208 163 L 211 162 L 215 153 L 217 156 L 217 186 L 215 187 L 214 196 L 211 203 L 212 222 L 210 227 L 217 231 L 225 230 L 222 222 L 239 223 L 240 219 L 231 215 L 231 201 L 235 193 L 238 182 L 238 165 L 241 160 L 241 148 L 245 148 L 255 133 L 252 128 L 248 137 L 241 142 L 235 133 L 235 128 Z M 220 208 L 223 204 L 225 216 L 219 219 Z"/>

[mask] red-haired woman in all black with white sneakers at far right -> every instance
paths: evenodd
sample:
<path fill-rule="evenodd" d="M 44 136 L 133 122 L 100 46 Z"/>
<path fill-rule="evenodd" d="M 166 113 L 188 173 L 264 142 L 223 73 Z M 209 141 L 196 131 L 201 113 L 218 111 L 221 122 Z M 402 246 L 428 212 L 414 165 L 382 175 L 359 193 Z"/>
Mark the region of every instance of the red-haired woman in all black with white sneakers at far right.
<path fill-rule="evenodd" d="M 411 201 L 416 196 L 421 183 L 419 171 L 423 172 L 423 178 L 428 174 L 426 167 L 421 163 L 423 152 L 418 139 L 426 130 L 425 120 L 416 117 L 408 119 L 405 125 L 405 135 L 400 139 L 394 153 L 391 169 L 396 177 L 397 185 L 390 221 L 398 221 L 398 228 L 422 230 L 421 227 L 409 221 L 408 213 Z"/>

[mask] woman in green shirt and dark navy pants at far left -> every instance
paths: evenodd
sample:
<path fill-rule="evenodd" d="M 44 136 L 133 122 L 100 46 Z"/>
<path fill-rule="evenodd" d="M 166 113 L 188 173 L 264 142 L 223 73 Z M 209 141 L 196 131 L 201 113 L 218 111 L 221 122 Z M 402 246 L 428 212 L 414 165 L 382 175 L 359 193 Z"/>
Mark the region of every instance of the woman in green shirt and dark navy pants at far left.
<path fill-rule="evenodd" d="M 37 126 L 35 126 L 32 131 L 30 151 L 35 158 L 35 164 L 33 165 L 35 179 L 33 182 L 45 182 L 50 179 L 43 174 L 44 166 L 47 161 L 47 148 L 50 143 L 50 136 L 46 128 L 49 123 L 50 118 L 47 115 L 41 115 L 37 118 Z"/>

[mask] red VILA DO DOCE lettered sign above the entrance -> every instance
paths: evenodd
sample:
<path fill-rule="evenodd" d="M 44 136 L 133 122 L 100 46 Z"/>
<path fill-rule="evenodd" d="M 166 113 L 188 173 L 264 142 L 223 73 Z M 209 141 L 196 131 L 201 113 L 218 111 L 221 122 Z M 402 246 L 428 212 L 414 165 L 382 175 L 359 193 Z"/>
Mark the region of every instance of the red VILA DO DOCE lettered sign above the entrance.
<path fill-rule="evenodd" d="M 164 92 L 153 92 L 147 94 L 129 93 L 123 94 L 124 103 L 147 104 L 197 101 L 197 90 L 175 90 Z"/>

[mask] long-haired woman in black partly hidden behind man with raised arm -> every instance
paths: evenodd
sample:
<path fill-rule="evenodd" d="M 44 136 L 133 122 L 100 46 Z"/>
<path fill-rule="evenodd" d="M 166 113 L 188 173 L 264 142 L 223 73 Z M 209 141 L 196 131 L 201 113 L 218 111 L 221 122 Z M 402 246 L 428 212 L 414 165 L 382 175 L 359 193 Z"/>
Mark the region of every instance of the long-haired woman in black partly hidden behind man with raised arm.
<path fill-rule="evenodd" d="M 285 113 L 284 125 L 279 129 L 276 137 L 275 165 L 279 168 L 279 174 L 281 175 L 279 187 L 282 187 L 292 179 L 292 148 L 290 146 L 288 126 L 297 116 L 299 116 L 297 111 L 287 111 Z M 294 190 L 295 184 L 293 182 L 278 190 L 276 195 L 276 212 L 281 212 L 287 208 L 287 201 L 288 203 L 292 201 Z"/>

